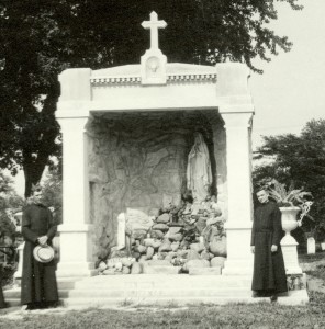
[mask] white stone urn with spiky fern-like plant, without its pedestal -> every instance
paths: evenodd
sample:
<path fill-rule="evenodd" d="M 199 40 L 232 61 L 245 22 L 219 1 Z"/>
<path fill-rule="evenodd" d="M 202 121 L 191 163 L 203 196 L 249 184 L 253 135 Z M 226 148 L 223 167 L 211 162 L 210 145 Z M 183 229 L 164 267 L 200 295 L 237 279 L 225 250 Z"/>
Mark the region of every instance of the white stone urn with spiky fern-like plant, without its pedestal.
<path fill-rule="evenodd" d="M 290 231 L 302 225 L 303 218 L 310 212 L 313 204 L 310 198 L 312 197 L 311 192 L 305 192 L 303 189 L 294 189 L 293 184 L 285 189 L 284 184 L 281 184 L 277 180 L 272 180 L 268 184 L 268 192 L 272 200 L 279 205 L 282 214 L 282 229 L 285 231 L 283 239 L 293 239 Z M 296 215 L 300 213 L 299 219 Z"/>

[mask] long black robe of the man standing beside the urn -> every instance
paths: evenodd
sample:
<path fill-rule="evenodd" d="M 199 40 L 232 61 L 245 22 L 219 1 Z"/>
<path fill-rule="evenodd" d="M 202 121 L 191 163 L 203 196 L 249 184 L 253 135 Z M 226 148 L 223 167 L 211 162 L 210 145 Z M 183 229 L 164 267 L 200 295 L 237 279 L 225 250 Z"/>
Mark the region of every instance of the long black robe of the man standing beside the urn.
<path fill-rule="evenodd" d="M 260 204 L 254 214 L 250 245 L 255 246 L 251 290 L 259 293 L 288 291 L 280 240 L 283 236 L 281 212 L 277 204 Z M 278 251 L 271 252 L 271 246 Z"/>

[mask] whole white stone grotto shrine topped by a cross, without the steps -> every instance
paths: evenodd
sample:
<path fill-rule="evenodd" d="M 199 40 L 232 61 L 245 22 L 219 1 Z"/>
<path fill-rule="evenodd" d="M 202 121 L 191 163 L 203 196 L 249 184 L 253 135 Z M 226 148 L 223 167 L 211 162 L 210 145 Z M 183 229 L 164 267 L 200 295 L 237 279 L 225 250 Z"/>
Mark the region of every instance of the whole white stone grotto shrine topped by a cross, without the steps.
<path fill-rule="evenodd" d="M 150 30 L 150 48 L 141 64 L 59 76 L 57 276 L 221 269 L 247 275 L 249 71 L 240 63 L 168 63 L 158 46 L 166 23 L 153 12 L 143 26 Z"/>

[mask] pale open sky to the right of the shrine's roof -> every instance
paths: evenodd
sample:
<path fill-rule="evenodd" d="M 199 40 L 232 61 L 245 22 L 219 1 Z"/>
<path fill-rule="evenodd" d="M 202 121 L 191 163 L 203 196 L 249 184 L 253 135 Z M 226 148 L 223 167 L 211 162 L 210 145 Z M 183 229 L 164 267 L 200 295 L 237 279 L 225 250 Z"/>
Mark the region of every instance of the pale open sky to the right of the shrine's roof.
<path fill-rule="evenodd" d="M 255 103 L 253 146 L 260 135 L 300 133 L 312 118 L 325 118 L 325 0 L 300 0 L 302 11 L 279 3 L 273 30 L 293 43 L 251 75 Z"/>

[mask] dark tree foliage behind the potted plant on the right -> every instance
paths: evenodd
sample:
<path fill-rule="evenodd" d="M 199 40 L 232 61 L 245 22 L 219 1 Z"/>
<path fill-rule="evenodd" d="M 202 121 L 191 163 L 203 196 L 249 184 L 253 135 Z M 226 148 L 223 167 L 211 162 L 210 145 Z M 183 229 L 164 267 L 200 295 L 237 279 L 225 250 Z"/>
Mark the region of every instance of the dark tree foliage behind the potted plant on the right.
<path fill-rule="evenodd" d="M 299 136 L 287 134 L 264 137 L 255 159 L 265 160 L 254 170 L 254 183 L 270 179 L 310 191 L 314 197 L 311 216 L 316 224 L 316 237 L 325 239 L 325 120 L 306 123 Z M 309 223 L 305 229 L 314 226 Z"/>

